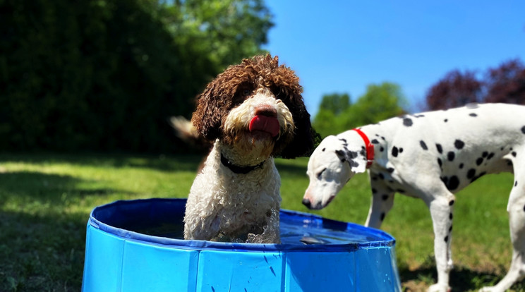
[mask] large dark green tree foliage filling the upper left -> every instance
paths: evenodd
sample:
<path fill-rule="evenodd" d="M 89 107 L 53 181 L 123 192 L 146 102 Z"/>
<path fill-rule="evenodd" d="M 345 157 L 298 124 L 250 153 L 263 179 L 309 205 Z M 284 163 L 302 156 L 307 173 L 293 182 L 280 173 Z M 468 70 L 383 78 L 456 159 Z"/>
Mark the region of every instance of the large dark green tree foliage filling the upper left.
<path fill-rule="evenodd" d="M 0 150 L 172 150 L 271 26 L 260 0 L 0 0 Z"/>

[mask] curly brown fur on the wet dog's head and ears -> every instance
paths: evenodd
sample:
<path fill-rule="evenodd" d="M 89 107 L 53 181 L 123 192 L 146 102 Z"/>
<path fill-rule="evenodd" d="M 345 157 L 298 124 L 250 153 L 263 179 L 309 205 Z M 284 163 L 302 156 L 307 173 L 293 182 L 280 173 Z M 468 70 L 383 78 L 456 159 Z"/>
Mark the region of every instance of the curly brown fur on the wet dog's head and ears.
<path fill-rule="evenodd" d="M 260 88 L 267 88 L 289 108 L 294 119 L 294 133 L 279 137 L 272 155 L 294 158 L 310 154 L 313 150 L 313 133 L 310 114 L 306 111 L 294 71 L 279 66 L 277 56 L 255 56 L 240 64 L 229 66 L 207 85 L 198 97 L 198 107 L 193 113 L 193 126 L 207 140 L 219 138 L 227 144 L 234 137 L 224 135 L 224 118 L 229 111 L 252 97 Z"/>

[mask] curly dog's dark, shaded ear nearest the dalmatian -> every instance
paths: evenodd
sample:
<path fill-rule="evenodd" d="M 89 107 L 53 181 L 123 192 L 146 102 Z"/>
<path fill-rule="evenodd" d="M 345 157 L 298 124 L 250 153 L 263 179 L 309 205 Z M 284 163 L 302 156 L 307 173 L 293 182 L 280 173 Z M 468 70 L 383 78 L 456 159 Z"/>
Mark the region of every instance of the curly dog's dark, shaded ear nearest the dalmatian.
<path fill-rule="evenodd" d="M 310 114 L 306 111 L 301 95 L 293 98 L 298 102 L 286 104 L 294 118 L 294 136 L 280 151 L 282 158 L 308 157 L 313 152 L 314 133 L 310 123 Z"/>

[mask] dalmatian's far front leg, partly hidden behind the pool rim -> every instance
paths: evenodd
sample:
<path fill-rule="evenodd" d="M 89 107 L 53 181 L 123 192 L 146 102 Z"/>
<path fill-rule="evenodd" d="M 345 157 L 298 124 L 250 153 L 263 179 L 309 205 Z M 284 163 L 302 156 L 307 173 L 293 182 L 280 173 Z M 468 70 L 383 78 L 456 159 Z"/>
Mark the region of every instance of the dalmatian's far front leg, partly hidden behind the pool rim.
<path fill-rule="evenodd" d="M 388 188 L 384 181 L 378 180 L 378 178 L 372 179 L 370 186 L 372 187 L 372 202 L 365 226 L 379 229 L 383 219 L 385 219 L 394 205 L 395 192 Z"/>

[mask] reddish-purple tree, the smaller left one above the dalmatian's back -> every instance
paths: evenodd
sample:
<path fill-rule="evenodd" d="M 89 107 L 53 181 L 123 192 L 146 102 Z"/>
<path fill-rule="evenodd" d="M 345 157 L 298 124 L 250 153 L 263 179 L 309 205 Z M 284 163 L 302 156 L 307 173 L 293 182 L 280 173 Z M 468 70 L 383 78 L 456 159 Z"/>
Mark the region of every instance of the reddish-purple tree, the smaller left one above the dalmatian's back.
<path fill-rule="evenodd" d="M 426 101 L 431 110 L 459 107 L 469 102 L 481 101 L 483 82 L 476 78 L 476 73 L 454 70 L 428 90 Z"/>

